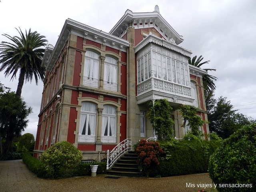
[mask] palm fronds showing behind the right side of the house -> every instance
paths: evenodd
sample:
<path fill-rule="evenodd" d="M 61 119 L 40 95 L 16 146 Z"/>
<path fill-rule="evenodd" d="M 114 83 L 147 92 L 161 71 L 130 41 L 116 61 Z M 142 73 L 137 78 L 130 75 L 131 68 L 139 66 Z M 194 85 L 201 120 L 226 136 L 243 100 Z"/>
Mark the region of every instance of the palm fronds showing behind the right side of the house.
<path fill-rule="evenodd" d="M 202 57 L 202 55 L 200 57 L 198 57 L 198 59 L 196 59 L 196 58 L 197 58 L 197 56 L 194 56 L 192 58 L 192 60 L 191 60 L 191 58 L 188 58 L 188 63 L 190 65 L 193 65 L 193 66 L 196 66 L 196 67 L 200 67 L 203 64 L 206 64 L 206 63 L 210 62 L 210 61 L 202 62 L 202 60 L 204 59 Z M 209 69 L 209 68 L 204 69 L 204 70 L 206 70 L 207 72 L 208 71 L 216 71 L 216 69 Z M 213 80 L 216 81 L 217 79 L 218 78 L 216 78 L 216 77 L 214 77 L 212 75 L 209 75 L 209 74 L 203 75 L 204 90 L 206 90 L 208 92 L 210 92 L 210 90 L 215 90 L 216 86 L 215 86 Z"/>

